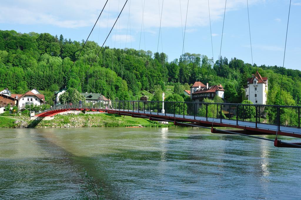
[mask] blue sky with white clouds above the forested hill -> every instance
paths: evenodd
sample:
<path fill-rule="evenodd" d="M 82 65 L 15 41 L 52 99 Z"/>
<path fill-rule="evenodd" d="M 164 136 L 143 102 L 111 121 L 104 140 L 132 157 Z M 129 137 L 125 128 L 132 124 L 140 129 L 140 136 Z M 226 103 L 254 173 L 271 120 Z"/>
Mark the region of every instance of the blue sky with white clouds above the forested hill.
<path fill-rule="evenodd" d="M 86 40 L 105 2 L 4 0 L 0 29 Z M 104 43 L 125 2 L 108 0 L 89 40 Z M 182 54 L 185 35 L 183 52 L 207 55 L 214 60 L 221 54 L 229 60 L 236 57 L 252 64 L 252 46 L 253 63 L 282 66 L 289 5 L 290 0 L 248 0 L 249 32 L 247 0 L 228 0 L 222 34 L 225 0 L 209 0 L 209 7 L 208 0 L 128 0 L 105 45 L 152 52 L 158 49 L 172 61 Z M 301 0 L 291 0 L 284 67 L 301 70 L 299 19 Z"/>

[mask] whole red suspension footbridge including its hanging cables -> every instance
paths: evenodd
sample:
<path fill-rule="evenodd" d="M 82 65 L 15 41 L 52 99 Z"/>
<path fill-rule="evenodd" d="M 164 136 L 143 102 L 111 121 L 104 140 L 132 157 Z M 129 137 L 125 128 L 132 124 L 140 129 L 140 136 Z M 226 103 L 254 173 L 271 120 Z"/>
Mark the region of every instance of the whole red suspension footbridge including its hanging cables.
<path fill-rule="evenodd" d="M 163 0 L 164 1 L 164 0 Z M 158 46 L 157 52 L 159 48 L 159 41 L 161 36 L 162 42 L 162 33 L 161 33 L 161 20 L 162 20 L 162 11 L 163 11 L 163 1 L 162 5 L 159 2 L 159 17 L 160 17 L 160 29 L 159 29 L 159 37 L 158 37 Z M 105 2 L 104 8 L 107 5 L 108 0 Z M 92 67 L 93 63 L 97 60 L 97 57 L 101 50 L 103 49 L 110 33 L 115 27 L 125 5 L 128 0 L 125 1 L 122 9 L 120 10 L 116 20 L 114 20 L 114 24 L 111 27 L 109 33 L 107 34 L 104 43 L 100 47 L 94 59 L 90 63 L 88 67 L 87 73 L 89 74 L 89 70 Z M 291 3 L 291 2 L 290 2 Z M 144 1 L 145 4 L 145 1 Z M 142 28 L 144 30 L 144 4 L 142 3 L 142 22 L 141 22 L 141 34 Z M 180 2 L 181 4 L 181 2 Z M 186 9 L 186 20 L 185 20 L 185 28 L 183 32 L 182 25 L 182 54 L 184 52 L 184 43 L 185 43 L 185 31 L 186 31 L 186 22 L 187 22 L 187 14 L 188 14 L 188 4 Z M 219 59 L 221 58 L 221 50 L 222 50 L 222 37 L 224 30 L 224 22 L 225 22 L 225 12 L 226 12 L 227 0 L 225 0 L 225 10 L 224 10 L 224 18 L 223 18 L 223 26 L 222 26 L 222 35 L 221 35 L 221 45 L 219 52 Z M 248 1 L 247 1 L 248 6 Z M 161 9 L 160 9 L 161 7 Z M 76 57 L 76 60 L 79 59 L 82 50 L 85 47 L 86 42 L 88 41 L 95 25 L 101 17 L 101 14 L 104 10 L 101 10 L 101 13 L 98 16 L 88 38 L 85 43 L 82 45 L 82 48 L 79 54 Z M 130 8 L 130 6 L 129 6 Z M 251 57 L 252 57 L 252 65 L 253 65 L 253 53 L 252 53 L 252 43 L 251 43 L 251 30 L 250 30 L 250 18 L 249 18 L 249 7 L 248 8 L 248 25 L 249 25 L 249 34 L 250 34 L 250 45 L 251 45 Z M 210 21 L 210 34 L 211 34 L 211 20 L 210 20 L 210 6 L 208 0 L 208 10 L 209 10 L 209 21 Z M 119 4 L 118 4 L 119 11 Z M 181 10 L 180 10 L 181 11 Z M 289 22 L 289 14 L 290 8 L 288 12 L 288 20 L 287 20 L 287 29 Z M 128 20 L 130 24 L 130 19 Z M 129 25 L 128 24 L 128 25 Z M 182 24 L 182 11 L 181 11 L 181 24 Z M 120 25 L 119 25 L 120 27 Z M 117 31 L 117 28 L 116 28 Z M 141 34 L 140 34 L 140 42 L 141 42 Z M 287 39 L 287 34 L 286 34 Z M 145 40 L 145 37 L 144 37 Z M 286 40 L 285 40 L 286 41 Z M 115 38 L 116 42 L 116 38 Z M 145 41 L 144 41 L 145 46 Z M 211 46 L 213 53 L 213 45 L 212 45 L 212 34 L 211 34 Z M 140 49 L 140 43 L 139 43 Z M 284 48 L 284 58 L 283 58 L 283 67 L 285 60 L 285 49 L 286 42 Z M 163 49 L 162 49 L 163 52 Z M 213 55 L 212 59 L 214 61 Z M 74 61 L 75 63 L 76 61 Z M 70 67 L 69 73 L 72 69 L 73 65 Z M 221 63 L 221 62 L 219 62 Z M 132 63 L 133 65 L 133 63 Z M 163 64 L 164 66 L 164 64 Z M 146 67 L 145 67 L 146 68 Z M 147 70 L 147 68 L 146 68 Z M 113 71 L 113 63 L 112 63 L 112 71 Z M 93 76 L 93 75 L 92 75 Z M 282 72 L 283 76 L 283 72 Z M 64 79 L 63 86 L 67 85 L 68 74 Z M 87 85 L 89 85 L 89 76 L 87 76 Z M 87 87 L 87 90 L 89 87 Z M 281 90 L 282 90 L 282 78 L 281 78 L 281 87 L 280 87 L 280 97 L 279 102 L 281 102 Z M 87 91 L 89 92 L 89 91 Z M 110 97 L 109 97 L 110 98 Z M 301 129 L 300 129 L 300 106 L 286 106 L 286 105 L 258 105 L 258 104 L 230 104 L 230 103 L 204 103 L 204 102 L 160 102 L 160 101 L 97 101 L 97 102 L 85 102 L 82 105 L 78 102 L 73 102 L 68 105 L 57 105 L 52 107 L 51 109 L 45 110 L 40 114 L 37 114 L 36 120 L 42 120 L 45 117 L 53 117 L 56 114 L 66 111 L 100 111 L 107 112 L 111 114 L 118 115 L 128 115 L 131 117 L 140 117 L 146 118 L 153 121 L 163 121 L 168 123 L 173 123 L 177 126 L 190 126 L 190 127 L 200 127 L 205 129 L 210 129 L 212 133 L 219 134 L 236 134 L 240 136 L 247 136 L 256 139 L 268 140 L 274 143 L 276 147 L 291 147 L 291 148 L 301 148 L 301 142 L 284 142 L 278 139 L 278 136 L 288 136 L 290 138 L 298 139 L 301 138 Z M 252 116 L 247 111 L 252 109 Z M 286 111 L 294 111 L 297 113 L 297 116 L 294 116 L 292 119 L 285 118 Z M 272 112 L 274 114 L 272 120 L 266 120 L 265 115 L 267 112 Z M 228 114 L 226 117 L 225 114 Z M 231 114 L 235 117 L 231 117 Z M 228 129 L 219 129 L 218 127 L 227 127 Z M 275 139 L 269 139 L 260 135 L 275 135 Z M 290 139 L 288 139 L 290 141 Z"/>

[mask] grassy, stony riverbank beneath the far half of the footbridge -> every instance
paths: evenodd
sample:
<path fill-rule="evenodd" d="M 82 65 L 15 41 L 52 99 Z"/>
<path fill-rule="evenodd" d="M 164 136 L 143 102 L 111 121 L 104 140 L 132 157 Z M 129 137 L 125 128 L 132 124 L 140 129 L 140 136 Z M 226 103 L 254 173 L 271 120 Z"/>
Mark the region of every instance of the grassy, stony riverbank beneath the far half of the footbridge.
<path fill-rule="evenodd" d="M 41 121 L 36 127 L 169 127 L 148 119 L 119 116 L 116 114 L 56 115 L 53 120 Z"/>

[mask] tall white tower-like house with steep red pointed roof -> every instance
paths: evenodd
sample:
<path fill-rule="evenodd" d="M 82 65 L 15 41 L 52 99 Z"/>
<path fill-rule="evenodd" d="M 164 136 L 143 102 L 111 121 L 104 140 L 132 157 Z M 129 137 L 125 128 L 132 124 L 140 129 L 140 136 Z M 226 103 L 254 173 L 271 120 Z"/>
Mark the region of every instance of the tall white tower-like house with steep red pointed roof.
<path fill-rule="evenodd" d="M 246 98 L 254 104 L 266 104 L 268 94 L 268 77 L 261 77 L 258 71 L 247 79 Z"/>

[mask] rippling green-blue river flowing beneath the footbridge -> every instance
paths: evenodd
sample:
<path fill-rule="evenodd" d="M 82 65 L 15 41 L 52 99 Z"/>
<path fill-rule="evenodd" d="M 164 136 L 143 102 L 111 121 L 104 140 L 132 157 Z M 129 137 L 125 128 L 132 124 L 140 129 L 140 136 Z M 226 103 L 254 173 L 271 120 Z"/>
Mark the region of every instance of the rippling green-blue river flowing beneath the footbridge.
<path fill-rule="evenodd" d="M 300 158 L 201 128 L 0 129 L 0 199 L 70 199 L 82 168 L 107 199 L 300 198 Z"/>

